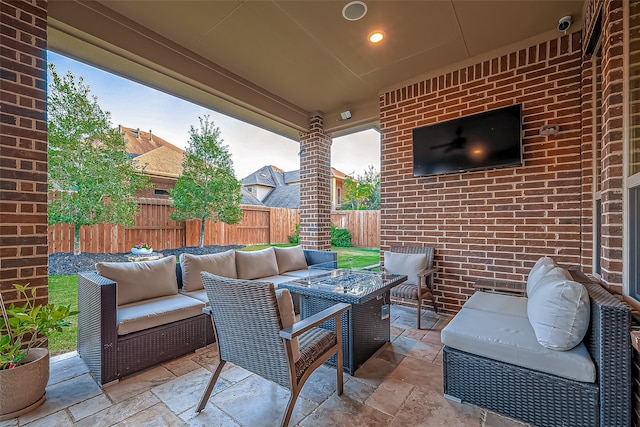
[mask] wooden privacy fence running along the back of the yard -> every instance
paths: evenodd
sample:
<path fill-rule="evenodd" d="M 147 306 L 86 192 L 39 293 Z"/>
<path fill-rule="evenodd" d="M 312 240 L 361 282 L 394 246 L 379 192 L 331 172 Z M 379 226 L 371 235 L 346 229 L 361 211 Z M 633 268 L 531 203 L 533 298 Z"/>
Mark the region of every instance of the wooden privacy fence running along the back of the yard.
<path fill-rule="evenodd" d="M 126 228 L 112 224 L 83 226 L 82 252 L 129 252 L 137 242 L 146 242 L 155 250 L 197 246 L 200 221 L 177 222 L 169 217 L 172 203 L 167 199 L 140 199 L 140 213 L 134 226 Z M 296 224 L 300 222 L 298 209 L 242 206 L 244 217 L 238 224 L 228 225 L 207 221 L 205 245 L 252 245 L 288 243 Z M 331 222 L 351 233 L 353 246 L 380 247 L 380 211 L 333 212 Z M 49 253 L 73 252 L 73 225 L 49 226 Z"/>

